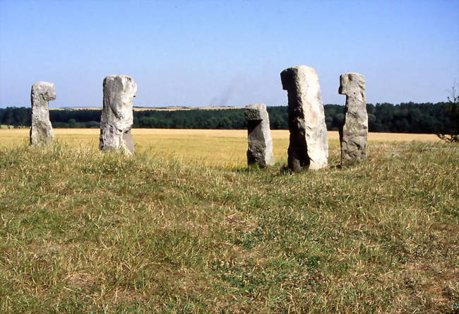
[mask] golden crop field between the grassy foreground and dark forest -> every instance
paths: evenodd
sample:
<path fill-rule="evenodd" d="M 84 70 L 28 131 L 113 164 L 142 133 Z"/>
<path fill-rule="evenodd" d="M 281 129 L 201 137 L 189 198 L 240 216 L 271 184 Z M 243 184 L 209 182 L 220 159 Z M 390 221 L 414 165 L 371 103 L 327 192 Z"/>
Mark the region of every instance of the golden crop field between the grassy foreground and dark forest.
<path fill-rule="evenodd" d="M 288 130 L 272 130 L 276 162 L 287 162 Z M 54 129 L 58 141 L 72 146 L 99 144 L 99 129 Z M 247 131 L 224 129 L 133 129 L 136 151 L 150 152 L 157 157 L 194 161 L 206 165 L 238 166 L 246 163 Z M 28 142 L 28 129 L 1 129 L 0 145 Z M 338 132 L 328 132 L 330 155 L 338 153 Z M 370 133 L 371 143 L 381 141 L 439 141 L 434 134 Z"/>

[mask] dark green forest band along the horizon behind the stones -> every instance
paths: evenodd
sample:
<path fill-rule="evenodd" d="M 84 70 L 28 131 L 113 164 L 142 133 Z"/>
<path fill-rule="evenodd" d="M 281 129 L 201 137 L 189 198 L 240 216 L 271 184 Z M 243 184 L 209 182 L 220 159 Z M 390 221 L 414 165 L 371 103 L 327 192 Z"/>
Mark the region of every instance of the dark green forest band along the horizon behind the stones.
<path fill-rule="evenodd" d="M 458 129 L 448 103 L 367 104 L 370 132 L 431 133 Z M 271 129 L 288 129 L 287 107 L 268 107 Z M 101 110 L 50 110 L 53 127 L 99 127 Z M 244 129 L 244 109 L 134 111 L 133 127 L 165 129 Z M 325 105 L 327 128 L 338 130 L 345 117 L 342 105 Z M 0 124 L 30 126 L 30 108 L 0 108 Z"/>

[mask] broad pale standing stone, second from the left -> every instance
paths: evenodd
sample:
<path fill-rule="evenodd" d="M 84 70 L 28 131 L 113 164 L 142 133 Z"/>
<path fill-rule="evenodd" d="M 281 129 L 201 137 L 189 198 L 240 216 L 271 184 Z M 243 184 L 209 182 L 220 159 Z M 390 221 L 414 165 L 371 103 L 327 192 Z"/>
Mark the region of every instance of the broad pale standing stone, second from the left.
<path fill-rule="evenodd" d="M 99 149 L 121 150 L 126 155 L 132 155 L 132 100 L 136 97 L 137 84 L 129 76 L 110 75 L 104 79 L 103 86 L 104 106 L 100 117 Z"/>

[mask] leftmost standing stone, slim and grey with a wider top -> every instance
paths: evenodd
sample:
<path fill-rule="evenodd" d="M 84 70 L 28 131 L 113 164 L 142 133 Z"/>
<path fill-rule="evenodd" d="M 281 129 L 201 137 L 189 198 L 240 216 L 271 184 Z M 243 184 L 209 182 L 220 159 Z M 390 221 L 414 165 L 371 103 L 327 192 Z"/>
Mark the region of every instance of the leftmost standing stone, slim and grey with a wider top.
<path fill-rule="evenodd" d="M 53 83 L 39 81 L 32 85 L 30 104 L 32 105 L 32 126 L 30 127 L 30 145 L 44 146 L 52 144 L 54 132 L 49 121 L 49 101 L 56 99 Z"/>

